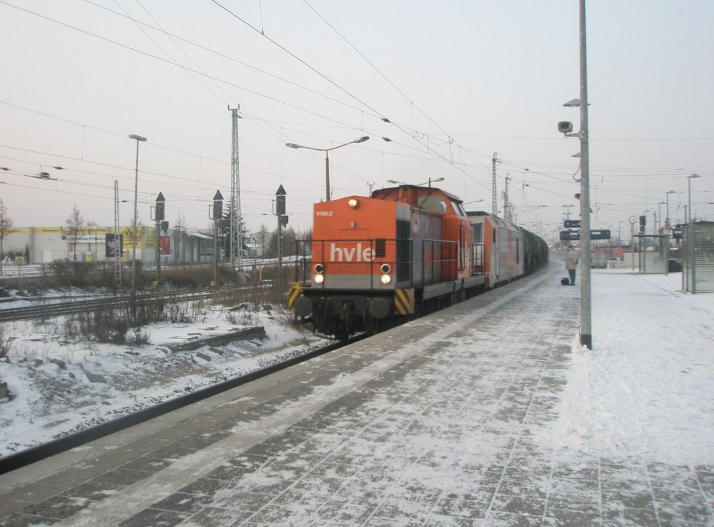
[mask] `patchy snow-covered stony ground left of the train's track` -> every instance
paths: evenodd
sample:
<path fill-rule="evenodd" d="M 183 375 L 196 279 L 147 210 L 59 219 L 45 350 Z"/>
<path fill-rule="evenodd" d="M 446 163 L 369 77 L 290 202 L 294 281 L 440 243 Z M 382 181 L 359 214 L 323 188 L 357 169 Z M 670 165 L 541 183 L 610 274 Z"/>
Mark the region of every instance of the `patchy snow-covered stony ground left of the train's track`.
<path fill-rule="evenodd" d="M 71 341 L 61 336 L 64 318 L 4 323 L 11 347 L 0 379 L 14 398 L 0 403 L 0 456 L 255 371 L 320 341 L 286 313 L 226 312 L 147 326 L 151 343 L 133 347 Z M 252 326 L 263 326 L 267 338 L 175 353 L 168 347 Z"/>

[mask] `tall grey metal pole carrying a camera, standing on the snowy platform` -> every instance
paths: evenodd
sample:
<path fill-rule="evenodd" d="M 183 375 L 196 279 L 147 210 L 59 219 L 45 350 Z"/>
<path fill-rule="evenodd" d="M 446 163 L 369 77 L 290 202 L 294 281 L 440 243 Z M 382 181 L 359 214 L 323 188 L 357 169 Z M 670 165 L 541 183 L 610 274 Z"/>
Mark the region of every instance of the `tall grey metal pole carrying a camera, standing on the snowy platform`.
<path fill-rule="evenodd" d="M 590 148 L 588 131 L 588 50 L 585 0 L 580 0 L 580 345 L 593 349 L 593 313 L 590 286 Z"/>

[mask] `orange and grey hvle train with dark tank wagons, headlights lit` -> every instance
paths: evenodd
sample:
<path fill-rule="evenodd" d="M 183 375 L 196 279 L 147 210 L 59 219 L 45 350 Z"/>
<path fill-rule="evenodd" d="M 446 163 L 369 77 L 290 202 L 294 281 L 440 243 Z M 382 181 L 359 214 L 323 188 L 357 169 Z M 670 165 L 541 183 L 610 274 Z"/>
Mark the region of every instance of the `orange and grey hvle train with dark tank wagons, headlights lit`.
<path fill-rule="evenodd" d="M 400 185 L 313 206 L 288 308 L 324 336 L 382 328 L 515 280 L 548 261 L 543 239 L 457 196 Z"/>

